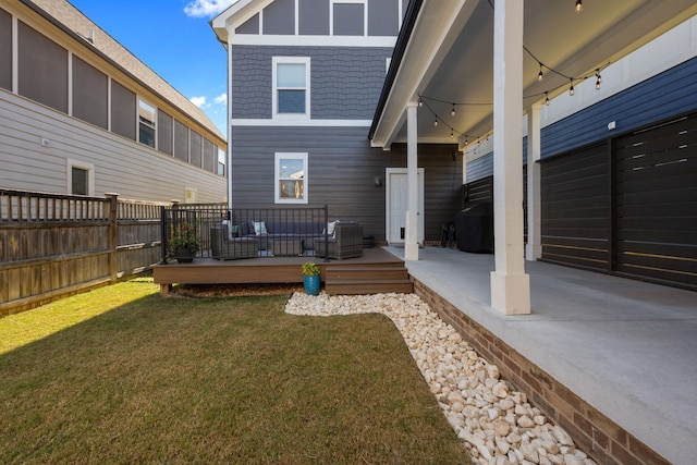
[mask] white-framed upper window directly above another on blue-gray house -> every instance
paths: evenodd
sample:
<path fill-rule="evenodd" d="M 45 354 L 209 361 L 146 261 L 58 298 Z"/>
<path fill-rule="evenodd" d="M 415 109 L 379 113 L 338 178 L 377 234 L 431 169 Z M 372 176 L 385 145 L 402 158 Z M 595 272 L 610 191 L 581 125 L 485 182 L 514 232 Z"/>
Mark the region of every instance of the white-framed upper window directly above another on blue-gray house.
<path fill-rule="evenodd" d="M 309 58 L 273 57 L 273 117 L 309 118 Z"/>

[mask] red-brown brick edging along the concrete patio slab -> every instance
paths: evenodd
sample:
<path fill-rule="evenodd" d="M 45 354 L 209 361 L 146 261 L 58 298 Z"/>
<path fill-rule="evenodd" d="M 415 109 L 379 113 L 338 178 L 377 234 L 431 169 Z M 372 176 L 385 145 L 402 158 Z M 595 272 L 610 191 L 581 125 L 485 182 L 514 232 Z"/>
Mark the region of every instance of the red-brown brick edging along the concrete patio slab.
<path fill-rule="evenodd" d="M 602 465 L 670 464 L 586 401 L 541 370 L 491 331 L 469 318 L 438 293 L 411 277 L 414 293 L 472 344 L 501 375 L 527 394 L 530 403 L 564 428 L 576 444 Z"/>

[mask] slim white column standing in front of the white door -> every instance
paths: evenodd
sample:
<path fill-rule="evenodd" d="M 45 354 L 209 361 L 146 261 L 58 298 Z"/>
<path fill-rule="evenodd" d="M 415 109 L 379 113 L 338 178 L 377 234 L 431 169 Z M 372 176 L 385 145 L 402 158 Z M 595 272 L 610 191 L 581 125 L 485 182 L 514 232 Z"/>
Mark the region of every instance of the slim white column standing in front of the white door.
<path fill-rule="evenodd" d="M 404 259 L 418 260 L 418 155 L 417 155 L 417 103 L 406 107 L 406 237 Z"/>

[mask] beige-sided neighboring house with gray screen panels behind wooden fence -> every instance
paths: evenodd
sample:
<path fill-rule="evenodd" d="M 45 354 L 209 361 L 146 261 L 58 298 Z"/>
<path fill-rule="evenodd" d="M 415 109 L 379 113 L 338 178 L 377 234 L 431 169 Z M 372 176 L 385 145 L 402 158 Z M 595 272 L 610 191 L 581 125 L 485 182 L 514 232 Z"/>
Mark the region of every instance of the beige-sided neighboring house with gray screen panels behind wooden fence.
<path fill-rule="evenodd" d="M 225 137 L 63 0 L 0 0 L 0 188 L 224 201 Z"/>

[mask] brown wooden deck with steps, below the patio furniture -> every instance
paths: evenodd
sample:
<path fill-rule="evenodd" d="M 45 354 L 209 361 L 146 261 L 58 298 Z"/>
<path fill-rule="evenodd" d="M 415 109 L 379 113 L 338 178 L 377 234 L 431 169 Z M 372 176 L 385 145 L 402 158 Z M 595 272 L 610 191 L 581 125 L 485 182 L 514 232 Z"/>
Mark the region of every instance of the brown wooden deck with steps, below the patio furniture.
<path fill-rule="evenodd" d="M 192 264 L 157 265 L 152 268 L 160 294 L 179 284 L 302 283 L 302 264 L 319 266 L 325 291 L 330 294 L 413 292 L 404 261 L 382 248 L 365 248 L 363 256 L 325 261 L 321 257 L 259 257 L 219 261 L 196 258 Z"/>

